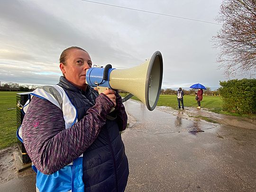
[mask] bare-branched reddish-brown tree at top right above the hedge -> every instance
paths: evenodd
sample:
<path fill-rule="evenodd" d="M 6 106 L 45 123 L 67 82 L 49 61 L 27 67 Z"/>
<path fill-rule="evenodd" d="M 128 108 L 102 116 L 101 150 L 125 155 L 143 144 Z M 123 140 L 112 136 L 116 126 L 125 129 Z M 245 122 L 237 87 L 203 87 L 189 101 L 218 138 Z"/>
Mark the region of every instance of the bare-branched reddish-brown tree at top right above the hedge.
<path fill-rule="evenodd" d="M 224 0 L 217 21 L 223 23 L 214 44 L 225 76 L 253 75 L 256 71 L 256 0 Z"/>

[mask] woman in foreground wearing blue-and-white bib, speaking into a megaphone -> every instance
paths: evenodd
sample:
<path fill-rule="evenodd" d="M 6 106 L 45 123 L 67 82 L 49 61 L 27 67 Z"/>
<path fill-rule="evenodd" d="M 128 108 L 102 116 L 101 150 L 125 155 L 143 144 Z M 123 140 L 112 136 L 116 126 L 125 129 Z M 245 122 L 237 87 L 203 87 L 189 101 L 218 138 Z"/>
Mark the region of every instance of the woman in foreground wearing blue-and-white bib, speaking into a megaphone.
<path fill-rule="evenodd" d="M 37 191 L 125 190 L 128 160 L 119 131 L 127 114 L 117 92 L 99 95 L 85 83 L 91 65 L 85 50 L 69 47 L 60 56 L 59 83 L 31 94 L 22 137 L 36 168 Z"/>

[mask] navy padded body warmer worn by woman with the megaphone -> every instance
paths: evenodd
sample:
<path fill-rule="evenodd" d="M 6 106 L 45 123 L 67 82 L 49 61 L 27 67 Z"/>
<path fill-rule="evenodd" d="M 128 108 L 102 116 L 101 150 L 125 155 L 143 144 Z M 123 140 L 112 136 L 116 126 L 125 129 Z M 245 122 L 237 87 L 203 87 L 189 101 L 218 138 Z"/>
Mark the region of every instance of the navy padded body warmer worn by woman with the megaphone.
<path fill-rule="evenodd" d="M 98 92 L 79 90 L 64 77 L 59 84 L 78 110 L 78 121 L 95 104 Z M 120 98 L 119 98 L 120 99 Z M 117 102 L 118 103 L 118 102 Z M 120 106 L 116 106 L 119 108 Z M 116 117 L 115 111 L 111 116 Z M 127 116 L 126 116 L 127 118 Z M 107 120 L 96 140 L 83 153 L 82 180 L 88 192 L 123 192 L 128 180 L 128 159 L 119 134 L 120 119 Z"/>

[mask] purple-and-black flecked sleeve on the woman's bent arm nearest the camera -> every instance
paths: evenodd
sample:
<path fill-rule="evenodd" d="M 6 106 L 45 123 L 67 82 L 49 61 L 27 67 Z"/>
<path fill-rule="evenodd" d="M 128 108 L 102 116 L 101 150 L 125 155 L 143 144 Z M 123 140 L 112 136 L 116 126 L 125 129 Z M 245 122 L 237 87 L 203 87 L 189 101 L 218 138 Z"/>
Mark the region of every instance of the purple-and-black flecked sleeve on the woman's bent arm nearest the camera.
<path fill-rule="evenodd" d="M 65 129 L 62 110 L 33 97 L 22 123 L 22 137 L 37 169 L 53 174 L 82 155 L 98 136 L 112 107 L 113 102 L 101 94 L 83 119 Z"/>

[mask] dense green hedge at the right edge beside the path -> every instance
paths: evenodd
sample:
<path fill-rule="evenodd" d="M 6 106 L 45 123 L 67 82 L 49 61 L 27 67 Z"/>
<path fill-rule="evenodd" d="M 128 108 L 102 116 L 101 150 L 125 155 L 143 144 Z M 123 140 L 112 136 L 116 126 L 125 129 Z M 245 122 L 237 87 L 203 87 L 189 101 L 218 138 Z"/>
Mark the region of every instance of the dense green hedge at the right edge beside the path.
<path fill-rule="evenodd" d="M 219 82 L 223 109 L 241 114 L 256 113 L 256 79 Z"/>

